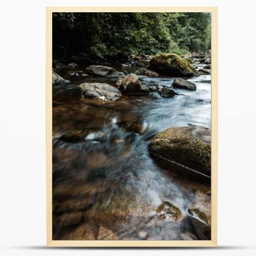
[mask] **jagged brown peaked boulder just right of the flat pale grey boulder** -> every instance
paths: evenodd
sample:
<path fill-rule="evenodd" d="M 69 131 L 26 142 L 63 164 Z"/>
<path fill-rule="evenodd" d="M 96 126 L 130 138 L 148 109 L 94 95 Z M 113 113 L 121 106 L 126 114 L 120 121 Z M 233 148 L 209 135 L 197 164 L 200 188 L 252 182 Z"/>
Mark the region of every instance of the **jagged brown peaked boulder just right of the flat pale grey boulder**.
<path fill-rule="evenodd" d="M 124 94 L 151 94 L 150 90 L 139 81 L 136 74 L 126 77 L 119 76 L 116 85 Z"/>

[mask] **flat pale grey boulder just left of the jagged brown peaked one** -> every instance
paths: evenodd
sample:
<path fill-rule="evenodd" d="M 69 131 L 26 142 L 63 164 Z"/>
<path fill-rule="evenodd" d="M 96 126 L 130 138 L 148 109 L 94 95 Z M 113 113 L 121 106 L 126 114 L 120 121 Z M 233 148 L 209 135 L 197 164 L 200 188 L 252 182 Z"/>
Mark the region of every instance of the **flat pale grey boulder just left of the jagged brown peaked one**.
<path fill-rule="evenodd" d="M 77 86 L 79 94 L 84 98 L 96 100 L 119 100 L 121 92 L 107 83 L 90 82 L 81 83 Z"/>

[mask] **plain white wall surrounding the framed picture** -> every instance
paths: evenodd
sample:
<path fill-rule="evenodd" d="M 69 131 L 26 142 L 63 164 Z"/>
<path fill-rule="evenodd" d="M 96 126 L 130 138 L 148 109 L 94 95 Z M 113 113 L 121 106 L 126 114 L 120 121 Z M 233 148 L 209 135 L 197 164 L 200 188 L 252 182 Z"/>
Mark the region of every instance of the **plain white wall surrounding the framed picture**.
<path fill-rule="evenodd" d="M 175 255 L 255 255 L 255 1 L 5 1 L 1 3 L 0 169 L 3 255 L 130 255 L 61 251 L 46 244 L 45 7 L 219 7 L 218 249 L 138 250 Z M 167 249 L 166 249 L 167 250 Z M 175 250 L 175 251 L 173 251 Z"/>

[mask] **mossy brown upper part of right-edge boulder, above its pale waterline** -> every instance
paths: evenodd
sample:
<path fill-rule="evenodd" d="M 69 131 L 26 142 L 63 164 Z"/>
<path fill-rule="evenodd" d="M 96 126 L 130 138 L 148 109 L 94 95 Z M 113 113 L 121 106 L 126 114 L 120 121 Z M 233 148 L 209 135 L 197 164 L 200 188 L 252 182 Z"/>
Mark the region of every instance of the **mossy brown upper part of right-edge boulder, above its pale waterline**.
<path fill-rule="evenodd" d="M 152 139 L 149 151 L 155 156 L 210 174 L 210 130 L 203 126 L 167 129 Z"/>

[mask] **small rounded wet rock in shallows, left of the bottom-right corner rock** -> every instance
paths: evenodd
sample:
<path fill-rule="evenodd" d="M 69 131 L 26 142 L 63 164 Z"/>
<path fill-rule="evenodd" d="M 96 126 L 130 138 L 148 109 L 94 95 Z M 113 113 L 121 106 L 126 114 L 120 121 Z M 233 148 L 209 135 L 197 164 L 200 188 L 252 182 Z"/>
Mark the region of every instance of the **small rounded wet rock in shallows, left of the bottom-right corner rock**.
<path fill-rule="evenodd" d="M 156 211 L 160 218 L 167 221 L 177 221 L 181 217 L 180 209 L 167 201 L 164 201 L 161 205 L 159 205 Z"/>

